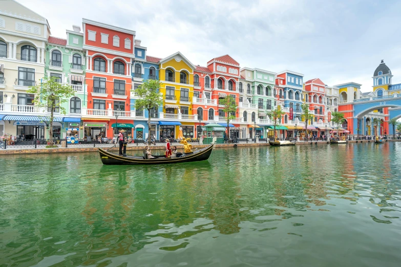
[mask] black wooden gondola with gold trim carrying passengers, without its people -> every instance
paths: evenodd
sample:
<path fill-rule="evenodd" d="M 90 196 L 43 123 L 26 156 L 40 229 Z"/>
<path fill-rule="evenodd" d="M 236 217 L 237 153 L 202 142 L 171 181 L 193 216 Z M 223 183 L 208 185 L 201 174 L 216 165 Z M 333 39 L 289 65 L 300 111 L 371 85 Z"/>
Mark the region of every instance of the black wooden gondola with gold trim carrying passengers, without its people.
<path fill-rule="evenodd" d="M 153 156 L 155 159 L 145 160 L 144 157 L 127 155 L 123 157 L 122 155 L 109 152 L 107 150 L 99 148 L 100 160 L 104 165 L 156 165 L 156 164 L 173 164 L 173 163 L 183 163 L 183 162 L 196 162 L 205 161 L 212 154 L 213 145 L 210 144 L 208 147 L 195 150 L 192 153 L 183 153 L 180 158 L 168 158 L 166 159 L 164 155 Z"/>

